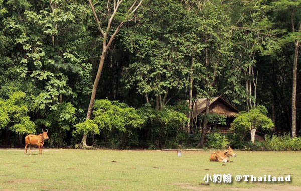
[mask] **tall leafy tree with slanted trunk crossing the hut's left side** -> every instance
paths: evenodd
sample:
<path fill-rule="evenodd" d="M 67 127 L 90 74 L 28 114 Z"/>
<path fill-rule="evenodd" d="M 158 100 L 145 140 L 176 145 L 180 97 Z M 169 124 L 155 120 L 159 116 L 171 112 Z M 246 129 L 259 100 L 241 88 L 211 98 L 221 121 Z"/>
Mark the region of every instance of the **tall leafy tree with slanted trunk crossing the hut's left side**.
<path fill-rule="evenodd" d="M 207 98 L 206 114 L 202 127 L 202 134 L 197 147 L 204 147 L 208 129 L 210 99 L 217 92 L 216 80 L 223 76 L 228 60 L 232 55 L 232 43 L 229 41 L 231 31 L 230 18 L 224 11 L 224 5 L 205 2 L 199 9 L 200 18 L 196 35 L 202 39 L 204 46 L 199 57 L 198 76 L 195 78 L 197 98 Z M 221 22 L 222 21 L 222 22 Z"/>

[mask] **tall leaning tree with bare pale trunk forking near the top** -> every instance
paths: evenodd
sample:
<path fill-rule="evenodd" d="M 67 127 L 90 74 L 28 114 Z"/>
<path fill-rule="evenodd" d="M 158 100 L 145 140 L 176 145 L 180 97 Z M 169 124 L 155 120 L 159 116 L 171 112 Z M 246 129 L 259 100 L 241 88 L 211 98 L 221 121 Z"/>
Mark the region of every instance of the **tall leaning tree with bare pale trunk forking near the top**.
<path fill-rule="evenodd" d="M 98 8 L 104 8 L 106 7 L 106 14 L 103 14 L 103 10 L 96 10 L 95 5 L 92 3 L 92 0 L 88 0 L 89 5 L 91 7 L 91 10 L 93 12 L 93 15 L 95 17 L 95 21 L 98 27 L 98 30 L 101 33 L 102 36 L 102 49 L 101 49 L 101 56 L 99 61 L 98 70 L 96 73 L 96 77 L 93 83 L 91 98 L 90 98 L 90 104 L 87 111 L 87 117 L 86 120 L 89 120 L 91 118 L 92 109 L 95 102 L 96 97 L 96 90 L 98 86 L 98 82 L 101 76 L 102 68 L 104 65 L 105 57 L 107 54 L 107 51 L 109 47 L 111 46 L 114 38 L 118 34 L 119 30 L 122 28 L 122 26 L 129 21 L 133 21 L 135 18 L 135 13 L 137 9 L 140 7 L 143 0 L 140 1 L 130 1 L 130 2 L 123 2 L 123 0 L 108 0 L 107 3 L 105 2 L 98 2 L 99 6 Z M 105 6 L 106 4 L 106 6 Z M 97 14 L 97 11 L 99 11 L 100 15 Z M 116 19 L 116 17 L 118 17 Z M 117 22 L 116 27 L 114 27 L 114 21 Z M 107 23 L 106 23 L 107 22 Z M 106 27 L 104 25 L 106 24 Z M 103 30 L 105 28 L 105 30 Z M 113 31 L 113 32 L 112 32 Z M 83 135 L 82 138 L 82 147 L 86 148 L 87 146 L 87 134 Z"/>

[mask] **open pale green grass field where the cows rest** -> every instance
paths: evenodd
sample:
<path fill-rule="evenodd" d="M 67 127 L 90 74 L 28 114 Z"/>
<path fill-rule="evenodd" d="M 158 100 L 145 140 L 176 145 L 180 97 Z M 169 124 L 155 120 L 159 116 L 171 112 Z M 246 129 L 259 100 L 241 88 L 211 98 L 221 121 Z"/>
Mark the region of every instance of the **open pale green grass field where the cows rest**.
<path fill-rule="evenodd" d="M 0 150 L 0 190 L 301 190 L 301 152 L 235 151 L 233 163 L 209 162 L 212 151 Z M 233 183 L 204 185 L 231 174 Z M 291 175 L 290 183 L 236 182 L 237 174 Z M 217 188 L 218 187 L 218 188 Z"/>

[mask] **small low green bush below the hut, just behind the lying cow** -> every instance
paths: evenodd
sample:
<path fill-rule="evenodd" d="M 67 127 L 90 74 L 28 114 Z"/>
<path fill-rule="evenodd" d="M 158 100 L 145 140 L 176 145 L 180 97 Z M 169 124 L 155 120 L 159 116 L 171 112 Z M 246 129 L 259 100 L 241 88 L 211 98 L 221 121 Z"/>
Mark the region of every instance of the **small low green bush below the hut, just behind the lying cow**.
<path fill-rule="evenodd" d="M 212 149 L 224 149 L 229 145 L 228 139 L 220 133 L 209 133 L 207 134 L 208 147 Z"/>

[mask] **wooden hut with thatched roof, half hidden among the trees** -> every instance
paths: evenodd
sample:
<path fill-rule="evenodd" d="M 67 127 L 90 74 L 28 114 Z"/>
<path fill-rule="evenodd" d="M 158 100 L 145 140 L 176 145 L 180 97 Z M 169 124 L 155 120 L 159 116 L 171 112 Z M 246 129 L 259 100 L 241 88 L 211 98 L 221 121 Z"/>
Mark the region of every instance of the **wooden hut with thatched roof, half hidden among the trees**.
<path fill-rule="evenodd" d="M 198 121 L 198 116 L 200 114 L 205 114 L 206 104 L 207 98 L 201 98 L 195 101 L 192 105 L 192 115 L 189 116 L 190 119 L 194 120 L 196 125 L 201 126 L 200 122 Z M 208 124 L 209 132 L 215 131 L 219 133 L 230 133 L 230 124 L 238 115 L 238 110 L 221 97 L 213 97 L 210 99 L 209 113 L 215 113 L 226 116 L 226 125 Z"/>

